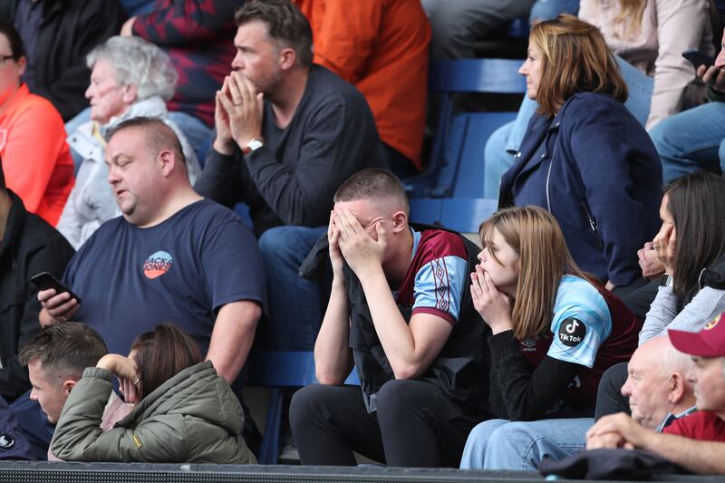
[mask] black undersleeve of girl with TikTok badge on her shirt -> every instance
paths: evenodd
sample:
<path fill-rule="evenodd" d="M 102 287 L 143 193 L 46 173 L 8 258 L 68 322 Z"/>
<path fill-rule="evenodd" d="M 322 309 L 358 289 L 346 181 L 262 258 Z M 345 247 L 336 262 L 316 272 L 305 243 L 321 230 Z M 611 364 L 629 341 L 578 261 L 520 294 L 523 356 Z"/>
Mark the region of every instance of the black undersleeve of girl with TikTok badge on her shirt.
<path fill-rule="evenodd" d="M 571 383 L 578 364 L 546 356 L 531 370 L 512 331 L 488 337 L 492 390 L 498 391 L 511 420 L 537 420 Z"/>

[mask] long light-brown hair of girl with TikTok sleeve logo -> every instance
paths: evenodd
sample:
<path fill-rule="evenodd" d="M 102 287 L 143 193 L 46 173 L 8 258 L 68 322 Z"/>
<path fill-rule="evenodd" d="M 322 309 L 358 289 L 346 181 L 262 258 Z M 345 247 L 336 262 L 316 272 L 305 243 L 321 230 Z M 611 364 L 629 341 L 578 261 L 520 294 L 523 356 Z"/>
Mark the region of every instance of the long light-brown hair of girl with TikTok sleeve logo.
<path fill-rule="evenodd" d="M 561 277 L 566 274 L 585 280 L 590 277 L 576 266 L 556 218 L 546 209 L 499 210 L 479 228 L 484 246 L 494 228 L 519 256 L 520 270 L 512 313 L 514 336 L 524 340 L 546 333 L 554 317 L 556 290 Z M 498 262 L 496 256 L 490 256 Z"/>

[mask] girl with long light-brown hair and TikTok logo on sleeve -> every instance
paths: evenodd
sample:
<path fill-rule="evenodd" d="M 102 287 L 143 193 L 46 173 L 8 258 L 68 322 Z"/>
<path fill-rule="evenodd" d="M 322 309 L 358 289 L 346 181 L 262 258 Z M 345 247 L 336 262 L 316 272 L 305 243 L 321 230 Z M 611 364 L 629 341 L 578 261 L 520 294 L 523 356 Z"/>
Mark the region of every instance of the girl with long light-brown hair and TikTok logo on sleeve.
<path fill-rule="evenodd" d="M 498 419 L 471 432 L 461 468 L 536 469 L 546 440 L 562 442 L 555 456 L 585 447 L 599 379 L 629 359 L 642 325 L 576 266 L 545 209 L 500 210 L 480 237 L 470 290 L 492 332 L 489 403 Z"/>

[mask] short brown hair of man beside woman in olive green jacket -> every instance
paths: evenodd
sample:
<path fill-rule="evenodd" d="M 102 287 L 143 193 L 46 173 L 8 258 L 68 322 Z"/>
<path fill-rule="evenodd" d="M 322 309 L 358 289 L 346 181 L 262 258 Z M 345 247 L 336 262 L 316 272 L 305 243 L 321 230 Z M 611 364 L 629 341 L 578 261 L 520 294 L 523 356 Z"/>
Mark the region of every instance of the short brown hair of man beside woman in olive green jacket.
<path fill-rule="evenodd" d="M 24 366 L 37 360 L 43 371 L 52 369 L 80 379 L 83 369 L 95 366 L 107 353 L 101 334 L 92 327 L 63 322 L 44 327 L 20 350 L 18 360 Z"/>

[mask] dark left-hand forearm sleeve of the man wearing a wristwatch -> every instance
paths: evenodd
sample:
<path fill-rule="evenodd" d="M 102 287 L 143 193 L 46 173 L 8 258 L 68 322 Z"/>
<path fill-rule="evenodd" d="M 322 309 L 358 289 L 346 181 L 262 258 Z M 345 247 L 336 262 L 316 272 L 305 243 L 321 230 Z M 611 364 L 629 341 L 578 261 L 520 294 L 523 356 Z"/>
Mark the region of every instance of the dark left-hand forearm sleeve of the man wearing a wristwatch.
<path fill-rule="evenodd" d="M 216 131 L 213 139 L 216 139 Z M 231 156 L 218 153 L 213 148 L 209 150 L 207 161 L 201 175 L 194 185 L 197 193 L 205 198 L 216 201 L 219 205 L 234 208 L 242 200 L 242 163 L 241 153 Z"/>

